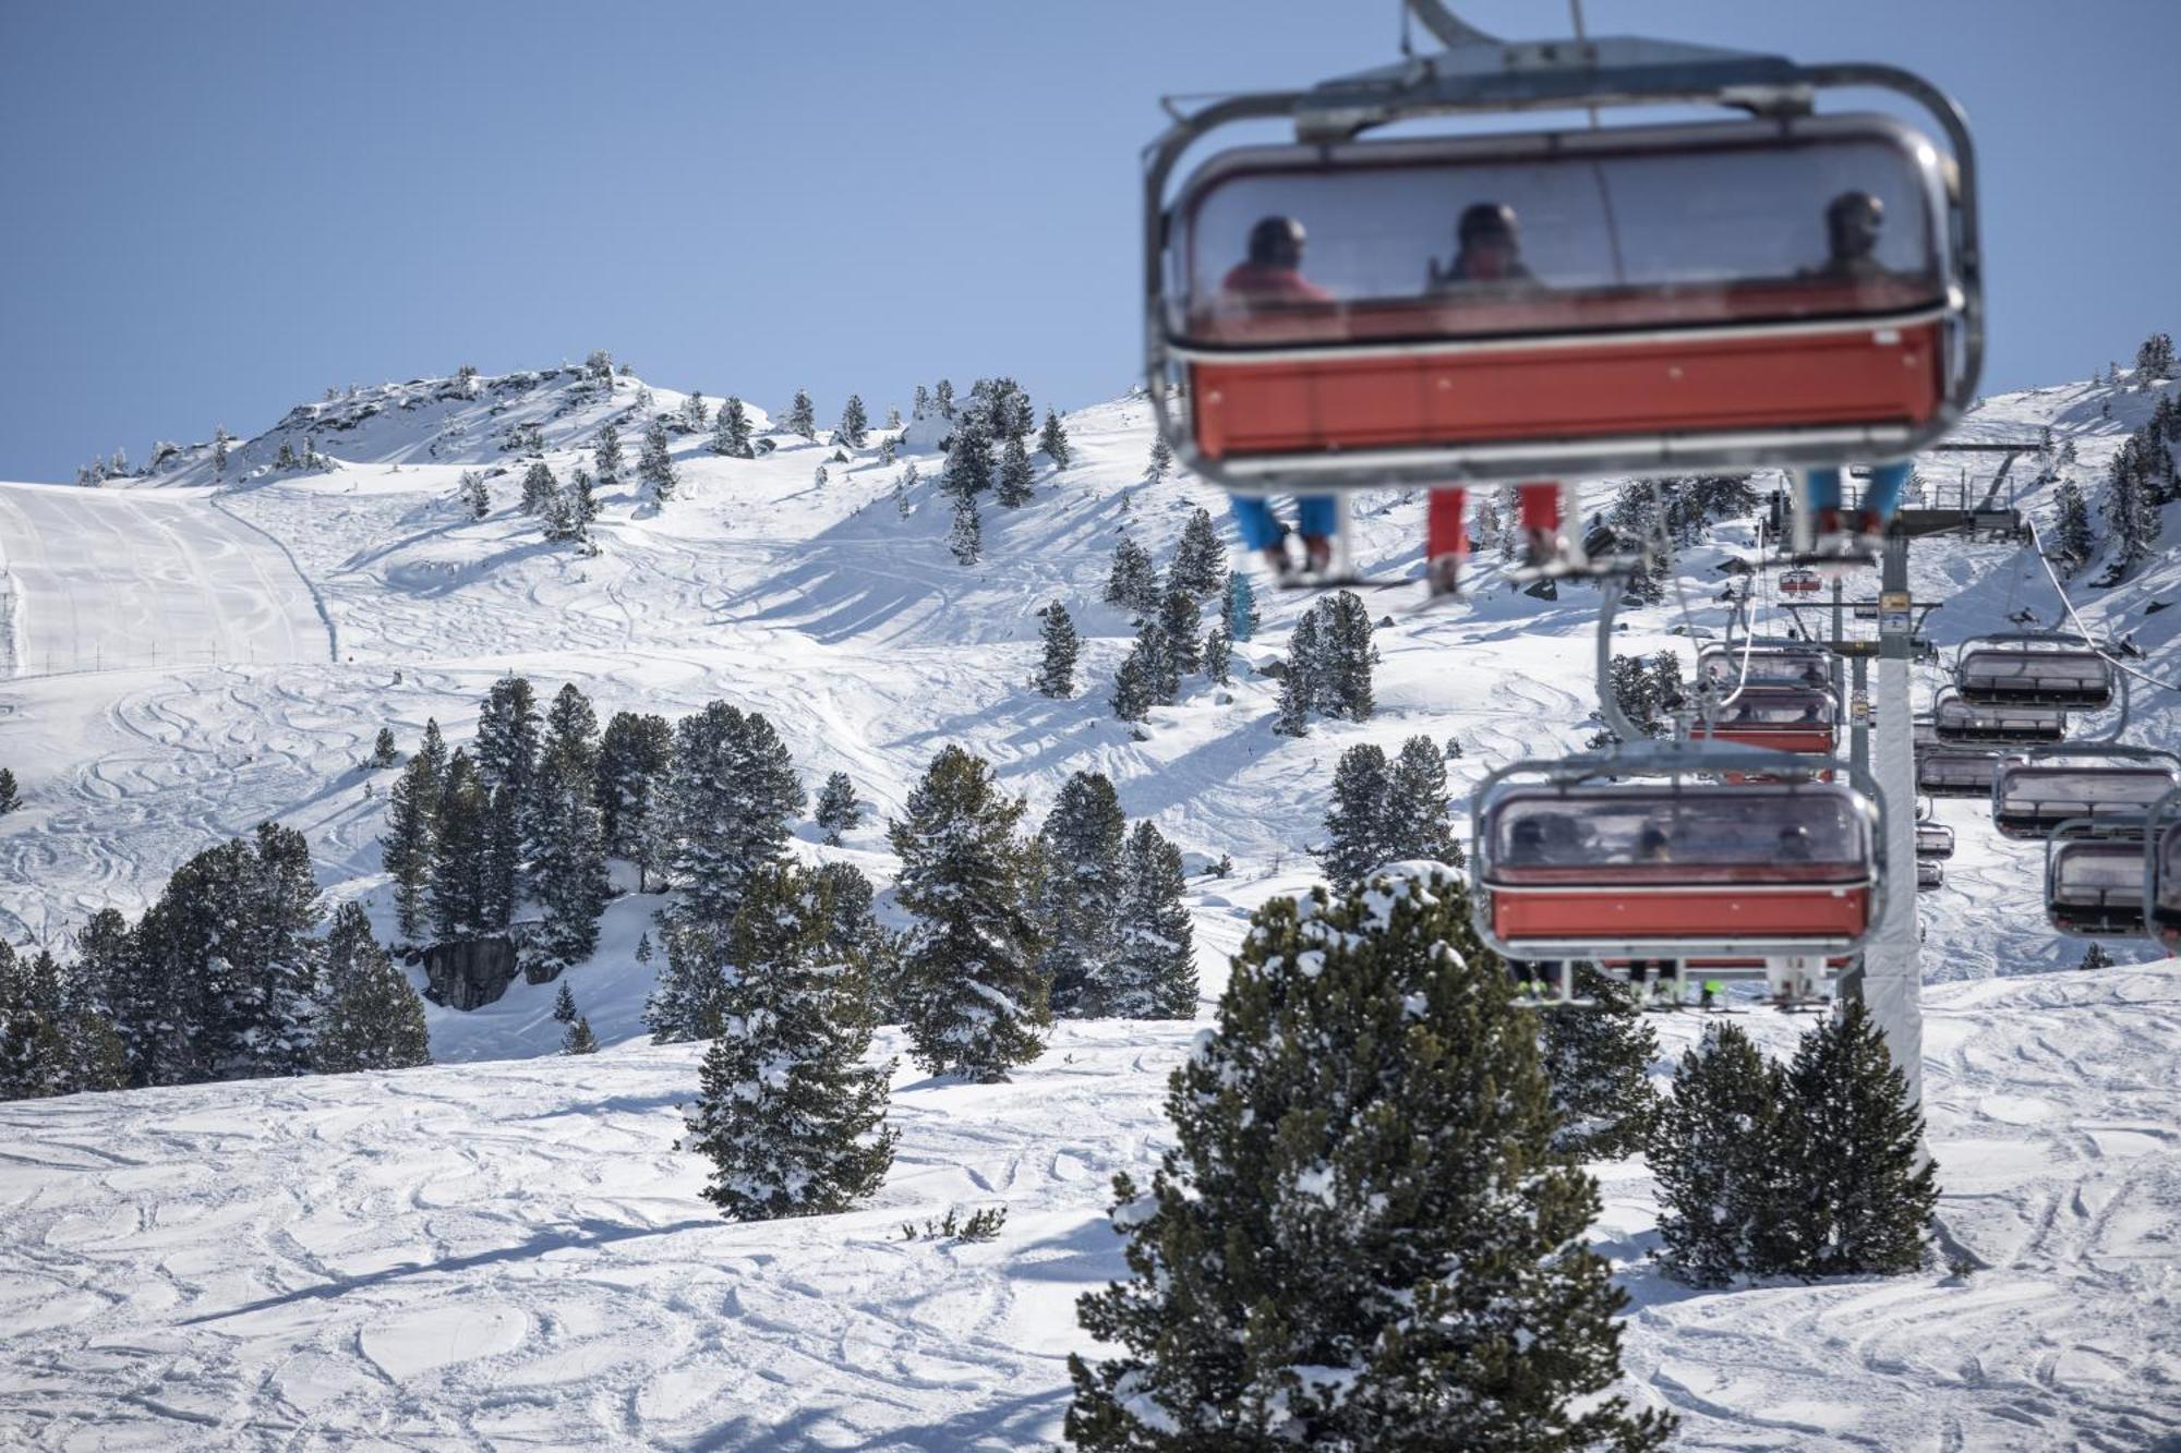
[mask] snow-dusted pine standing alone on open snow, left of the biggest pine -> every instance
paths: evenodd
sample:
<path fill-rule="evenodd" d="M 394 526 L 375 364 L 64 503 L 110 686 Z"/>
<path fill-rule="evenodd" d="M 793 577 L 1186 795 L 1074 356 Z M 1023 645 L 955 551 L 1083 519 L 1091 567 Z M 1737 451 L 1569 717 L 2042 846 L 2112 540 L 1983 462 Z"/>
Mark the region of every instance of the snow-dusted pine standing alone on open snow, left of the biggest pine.
<path fill-rule="evenodd" d="M 870 986 L 827 953 L 824 923 L 816 877 L 776 864 L 750 877 L 728 932 L 728 1014 L 680 1141 L 711 1161 L 704 1200 L 728 1220 L 846 1211 L 894 1163 L 892 1062 L 864 1065 Z"/>

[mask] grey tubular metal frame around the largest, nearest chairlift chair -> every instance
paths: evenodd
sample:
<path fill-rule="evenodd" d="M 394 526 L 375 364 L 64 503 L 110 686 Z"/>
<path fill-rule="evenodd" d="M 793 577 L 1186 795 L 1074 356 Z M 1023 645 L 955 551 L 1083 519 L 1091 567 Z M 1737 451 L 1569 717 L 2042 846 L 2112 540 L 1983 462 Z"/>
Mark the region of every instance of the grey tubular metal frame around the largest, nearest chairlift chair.
<path fill-rule="evenodd" d="M 1978 238 L 1976 148 L 1961 107 L 1937 85 L 1897 65 L 1797 65 L 1786 57 L 1660 41 L 1575 37 L 1501 41 L 1455 20 L 1439 0 L 1409 0 L 1411 13 L 1446 44 L 1429 57 L 1337 76 L 1309 89 L 1224 96 L 1200 109 L 1173 98 L 1173 124 L 1143 153 L 1145 384 L 1152 412 L 1176 456 L 1206 480 L 1245 495 L 1333 493 L 1400 484 L 1501 482 L 1535 478 L 1673 476 L 1902 458 L 1939 441 L 1976 397 L 1985 353 L 1983 253 Z M 1167 242 L 1173 205 L 1167 192 L 1184 155 L 1224 127 L 1291 122 L 1298 144 L 1335 146 L 1396 122 L 1450 116 L 1522 116 L 1605 107 L 1721 107 L 1782 131 L 1817 118 L 1817 96 L 1839 89 L 1891 92 L 1928 113 L 1952 153 L 1939 218 L 1950 284 L 1941 349 L 1948 391 L 1921 425 L 1797 425 L 1721 434 L 1627 432 L 1485 445 L 1359 447 L 1248 460 L 1202 454 L 1176 406 L 1186 345 L 1169 336 Z M 1823 118 L 1817 118 L 1823 120 Z M 1703 127 L 1686 127 L 1697 137 Z M 1577 137 L 1581 133 L 1568 133 Z M 1695 144 L 1695 142 L 1692 142 Z M 1699 336 L 1692 332 L 1690 336 Z M 1544 338 L 1533 338 L 1544 343 Z M 1370 347 L 1370 345 L 1363 345 Z M 1330 356 L 1330 349 L 1317 349 Z"/>

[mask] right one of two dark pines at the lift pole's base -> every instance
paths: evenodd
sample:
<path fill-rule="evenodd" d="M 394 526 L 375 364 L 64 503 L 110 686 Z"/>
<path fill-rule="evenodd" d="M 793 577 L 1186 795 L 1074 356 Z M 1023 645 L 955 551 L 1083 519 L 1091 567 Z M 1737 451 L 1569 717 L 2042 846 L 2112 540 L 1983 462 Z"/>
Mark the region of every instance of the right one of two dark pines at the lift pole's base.
<path fill-rule="evenodd" d="M 1782 1080 L 1780 1193 L 1758 1237 L 1760 1272 L 1900 1274 L 1924 1263 L 1939 1204 L 1924 1117 L 1858 999 L 1802 1036 Z"/>

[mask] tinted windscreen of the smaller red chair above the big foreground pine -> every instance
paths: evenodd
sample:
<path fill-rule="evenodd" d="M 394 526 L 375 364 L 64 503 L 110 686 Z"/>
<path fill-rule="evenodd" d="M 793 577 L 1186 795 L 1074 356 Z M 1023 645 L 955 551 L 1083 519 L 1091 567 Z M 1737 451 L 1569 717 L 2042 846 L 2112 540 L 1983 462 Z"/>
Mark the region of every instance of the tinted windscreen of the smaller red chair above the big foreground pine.
<path fill-rule="evenodd" d="M 1786 879 L 1852 881 L 1869 866 L 1869 829 L 1858 803 L 1847 790 L 1754 785 L 1538 790 L 1492 807 L 1487 840 L 1494 870 L 1509 877 L 1553 868 L 1658 868 L 1644 877 L 1778 868 Z"/>

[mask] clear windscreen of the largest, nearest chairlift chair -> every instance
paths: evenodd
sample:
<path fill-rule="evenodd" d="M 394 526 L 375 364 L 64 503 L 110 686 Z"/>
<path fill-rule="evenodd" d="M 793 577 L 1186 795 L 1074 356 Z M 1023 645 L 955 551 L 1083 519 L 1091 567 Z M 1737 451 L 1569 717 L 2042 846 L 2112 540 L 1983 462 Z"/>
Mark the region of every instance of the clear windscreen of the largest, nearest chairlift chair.
<path fill-rule="evenodd" d="M 1269 146 L 1208 164 L 1169 329 L 1370 343 L 1876 316 L 1943 301 L 1937 155 L 1891 122 Z"/>

